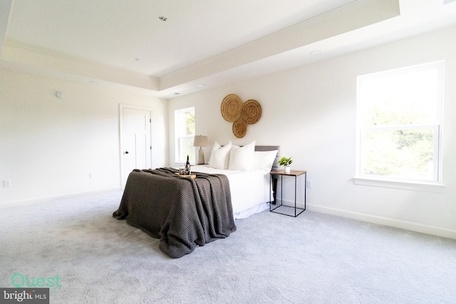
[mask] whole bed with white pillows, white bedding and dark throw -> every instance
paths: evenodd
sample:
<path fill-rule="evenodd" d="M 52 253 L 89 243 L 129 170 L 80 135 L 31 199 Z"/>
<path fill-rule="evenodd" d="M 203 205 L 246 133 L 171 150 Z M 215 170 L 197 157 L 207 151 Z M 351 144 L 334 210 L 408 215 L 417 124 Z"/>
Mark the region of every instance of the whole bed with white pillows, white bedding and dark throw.
<path fill-rule="evenodd" d="M 113 217 L 160 239 L 162 252 L 180 258 L 197 246 L 227 238 L 237 229 L 235 219 L 269 209 L 274 192 L 269 172 L 277 169 L 279 147 L 252 147 L 249 166 L 254 167 L 248 169 L 242 167 L 248 145 L 214 148 L 209 164 L 192 166 L 195 178 L 181 177 L 175 168 L 133 170 Z M 224 160 L 228 157 L 231 166 L 217 165 L 223 149 L 229 150 Z"/>

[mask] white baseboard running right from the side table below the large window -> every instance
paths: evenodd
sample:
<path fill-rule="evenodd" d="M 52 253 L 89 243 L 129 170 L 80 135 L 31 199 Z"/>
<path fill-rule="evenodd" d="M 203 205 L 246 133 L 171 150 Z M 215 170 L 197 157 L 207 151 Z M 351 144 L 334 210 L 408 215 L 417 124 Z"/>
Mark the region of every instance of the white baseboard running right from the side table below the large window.
<path fill-rule="evenodd" d="M 304 206 L 304 205 L 303 205 Z M 362 214 L 353 211 L 345 211 L 341 209 L 328 208 L 323 206 L 316 206 L 313 204 L 306 204 L 306 209 L 315 211 L 323 214 L 331 214 L 334 216 L 341 216 L 348 219 L 356 219 L 358 221 L 367 221 L 368 223 L 380 224 L 384 226 L 395 227 L 399 229 L 405 229 L 422 234 L 431 234 L 433 236 L 442 236 L 448 239 L 456 239 L 456 231 L 445 229 L 437 226 L 429 226 L 424 224 L 418 224 L 411 221 L 401 221 L 398 219 L 390 219 L 383 216 L 373 216 L 370 214 Z"/>

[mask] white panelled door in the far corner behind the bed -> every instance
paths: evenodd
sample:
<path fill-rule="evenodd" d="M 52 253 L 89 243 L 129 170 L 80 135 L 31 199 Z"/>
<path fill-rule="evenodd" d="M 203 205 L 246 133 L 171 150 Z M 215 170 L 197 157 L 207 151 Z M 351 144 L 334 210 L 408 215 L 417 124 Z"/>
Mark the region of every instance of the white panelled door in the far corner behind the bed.
<path fill-rule="evenodd" d="M 122 108 L 122 187 L 133 169 L 150 169 L 152 145 L 150 144 L 151 112 Z"/>

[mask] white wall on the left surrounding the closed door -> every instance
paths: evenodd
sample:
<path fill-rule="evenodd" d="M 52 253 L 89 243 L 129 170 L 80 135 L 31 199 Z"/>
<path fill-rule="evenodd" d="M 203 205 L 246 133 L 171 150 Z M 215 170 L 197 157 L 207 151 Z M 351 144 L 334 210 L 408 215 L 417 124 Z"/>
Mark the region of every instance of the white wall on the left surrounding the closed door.
<path fill-rule="evenodd" d="M 0 204 L 120 188 L 120 103 L 152 108 L 152 165 L 166 165 L 166 100 L 0 70 Z"/>

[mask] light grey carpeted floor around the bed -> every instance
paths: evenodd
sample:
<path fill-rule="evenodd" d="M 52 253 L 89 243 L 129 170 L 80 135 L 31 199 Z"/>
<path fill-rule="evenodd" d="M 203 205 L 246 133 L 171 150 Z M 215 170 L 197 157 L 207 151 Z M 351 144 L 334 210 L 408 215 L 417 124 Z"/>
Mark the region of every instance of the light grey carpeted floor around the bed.
<path fill-rule="evenodd" d="M 456 303 L 455 240 L 264 211 L 171 259 L 113 219 L 121 195 L 0 206 L 0 287 L 43 278 L 51 303 Z"/>

